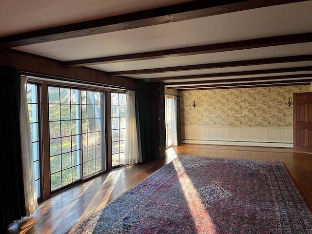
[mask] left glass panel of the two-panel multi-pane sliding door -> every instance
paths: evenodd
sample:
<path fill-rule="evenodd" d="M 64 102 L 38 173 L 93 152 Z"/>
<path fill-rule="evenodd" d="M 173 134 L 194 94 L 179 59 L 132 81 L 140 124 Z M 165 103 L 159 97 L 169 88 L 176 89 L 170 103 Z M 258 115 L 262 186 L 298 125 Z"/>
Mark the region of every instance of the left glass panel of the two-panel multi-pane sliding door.
<path fill-rule="evenodd" d="M 81 179 L 80 92 L 48 87 L 51 191 Z"/>

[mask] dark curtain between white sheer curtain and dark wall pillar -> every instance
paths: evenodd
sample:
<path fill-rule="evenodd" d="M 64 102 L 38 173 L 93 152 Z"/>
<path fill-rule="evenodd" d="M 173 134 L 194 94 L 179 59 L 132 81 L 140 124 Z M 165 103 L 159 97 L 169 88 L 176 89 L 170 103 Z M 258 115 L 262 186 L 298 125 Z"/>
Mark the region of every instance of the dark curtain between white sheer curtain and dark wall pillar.
<path fill-rule="evenodd" d="M 136 120 L 137 138 L 142 162 L 151 158 L 150 122 L 149 122 L 149 93 L 136 91 Z"/>

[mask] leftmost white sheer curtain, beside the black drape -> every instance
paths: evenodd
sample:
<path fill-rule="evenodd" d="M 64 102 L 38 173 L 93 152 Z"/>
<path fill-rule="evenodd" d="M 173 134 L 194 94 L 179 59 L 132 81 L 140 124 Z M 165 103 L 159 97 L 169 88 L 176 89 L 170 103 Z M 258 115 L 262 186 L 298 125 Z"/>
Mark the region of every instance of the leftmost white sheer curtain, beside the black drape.
<path fill-rule="evenodd" d="M 38 207 L 34 164 L 32 156 L 31 132 L 27 105 L 27 77 L 20 78 L 20 142 L 23 166 L 26 215 L 35 213 Z"/>

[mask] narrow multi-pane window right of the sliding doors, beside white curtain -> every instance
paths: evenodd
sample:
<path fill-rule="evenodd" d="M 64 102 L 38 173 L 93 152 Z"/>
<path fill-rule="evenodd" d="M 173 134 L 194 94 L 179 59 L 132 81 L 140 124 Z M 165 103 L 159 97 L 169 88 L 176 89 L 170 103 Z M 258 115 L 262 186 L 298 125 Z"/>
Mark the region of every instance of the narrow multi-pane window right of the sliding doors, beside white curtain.
<path fill-rule="evenodd" d="M 124 163 L 126 94 L 111 93 L 112 166 Z"/>

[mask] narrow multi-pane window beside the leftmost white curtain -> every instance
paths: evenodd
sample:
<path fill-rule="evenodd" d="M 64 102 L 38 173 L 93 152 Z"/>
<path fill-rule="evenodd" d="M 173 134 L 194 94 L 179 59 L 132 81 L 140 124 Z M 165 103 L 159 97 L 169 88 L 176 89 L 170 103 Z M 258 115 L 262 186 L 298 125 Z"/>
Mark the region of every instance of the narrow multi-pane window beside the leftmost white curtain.
<path fill-rule="evenodd" d="M 40 155 L 39 155 L 39 103 L 38 86 L 36 84 L 27 84 L 27 103 L 30 121 L 32 156 L 34 162 L 35 184 L 37 198 L 40 197 Z"/>

